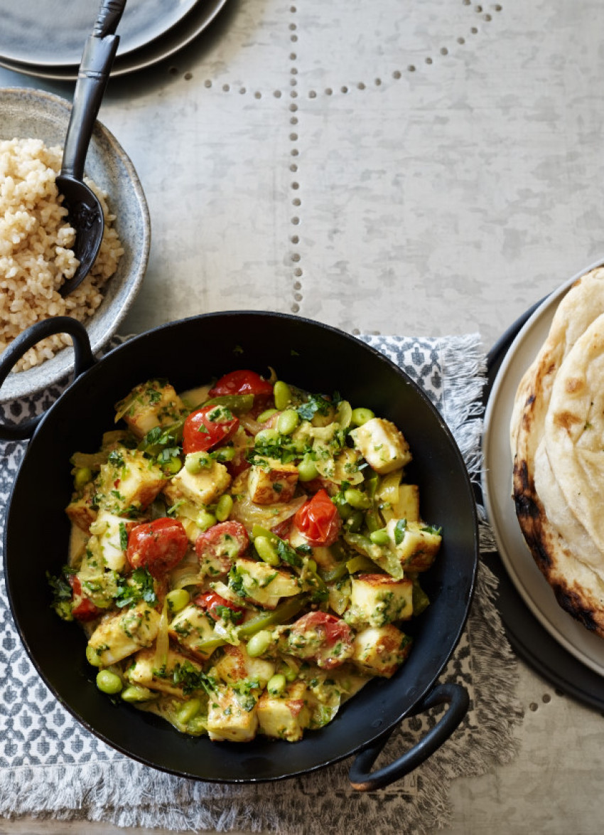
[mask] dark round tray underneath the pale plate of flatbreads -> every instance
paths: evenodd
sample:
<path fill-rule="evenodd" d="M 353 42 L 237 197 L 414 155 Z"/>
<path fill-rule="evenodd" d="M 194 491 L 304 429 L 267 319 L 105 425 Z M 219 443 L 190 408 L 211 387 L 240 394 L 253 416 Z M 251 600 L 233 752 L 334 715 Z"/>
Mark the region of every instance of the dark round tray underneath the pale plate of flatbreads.
<path fill-rule="evenodd" d="M 520 316 L 488 353 L 486 357 L 487 383 L 483 394 L 485 405 L 491 395 L 491 388 L 506 352 L 521 327 L 539 305 L 541 301 Z M 604 677 L 567 652 L 541 626 L 516 591 L 499 554 L 483 554 L 482 559 L 499 579 L 496 606 L 507 638 L 516 654 L 562 692 L 586 705 L 604 710 Z"/>

